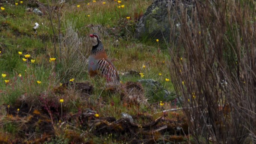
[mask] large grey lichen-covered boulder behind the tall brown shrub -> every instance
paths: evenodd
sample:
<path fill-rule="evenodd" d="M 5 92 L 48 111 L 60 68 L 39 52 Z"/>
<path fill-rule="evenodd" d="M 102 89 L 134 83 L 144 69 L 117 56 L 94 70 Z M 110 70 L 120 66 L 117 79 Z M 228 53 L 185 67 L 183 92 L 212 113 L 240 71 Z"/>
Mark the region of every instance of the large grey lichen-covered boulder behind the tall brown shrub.
<path fill-rule="evenodd" d="M 136 38 L 141 39 L 147 37 L 151 39 L 162 39 L 168 41 L 170 38 L 171 25 L 168 19 L 168 1 L 169 0 L 154 0 L 153 3 L 147 8 L 144 15 L 140 18 L 140 21 L 136 25 Z M 180 13 L 179 6 L 176 4 L 176 0 L 171 1 L 171 9 L 173 11 L 176 8 L 177 13 Z M 182 4 L 185 8 L 192 7 L 192 0 L 183 0 Z M 180 24 L 177 21 L 177 16 L 172 15 L 171 18 L 174 21 L 174 26 L 179 27 Z M 176 13 L 176 12 L 175 12 Z"/>

